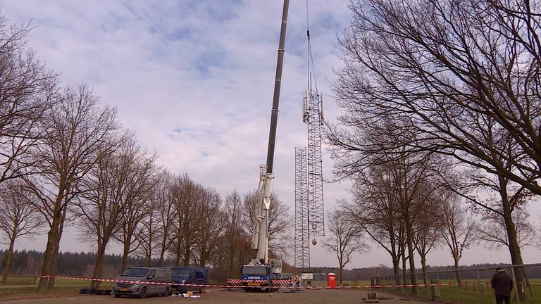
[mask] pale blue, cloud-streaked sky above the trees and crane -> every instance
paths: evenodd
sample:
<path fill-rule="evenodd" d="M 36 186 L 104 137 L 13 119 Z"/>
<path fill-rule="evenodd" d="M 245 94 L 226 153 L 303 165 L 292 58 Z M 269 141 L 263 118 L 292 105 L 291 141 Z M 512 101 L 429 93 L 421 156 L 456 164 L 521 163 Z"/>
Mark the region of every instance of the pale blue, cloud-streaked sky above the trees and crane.
<path fill-rule="evenodd" d="M 309 0 L 311 43 L 325 119 L 340 114 L 330 84 L 337 37 L 349 25 L 349 0 Z M 104 105 L 118 108 L 142 147 L 172 172 L 186 172 L 225 196 L 257 186 L 265 163 L 282 1 L 41 1 L 0 0 L 11 23 L 35 27 L 28 45 L 63 84 L 87 82 Z M 282 75 L 273 191 L 294 210 L 294 147 L 306 146 L 301 97 L 306 88 L 306 1 L 292 0 Z M 323 172 L 332 160 L 323 145 Z M 347 182 L 325 183 L 325 212 L 347 198 Z M 540 203 L 531 208 L 539 222 Z M 311 246 L 312 266 L 337 266 L 332 253 Z M 46 236 L 20 240 L 18 249 L 44 250 Z M 0 247 L 2 248 L 2 247 Z M 92 251 L 68 227 L 61 251 Z M 120 253 L 112 244 L 108 253 Z M 540 262 L 540 250 L 523 250 L 524 262 Z M 487 258 L 490 257 L 490 258 Z M 292 258 L 292 257 L 291 257 Z M 475 246 L 464 265 L 510 262 L 509 251 Z M 391 265 L 377 246 L 356 255 L 347 268 Z M 429 265 L 451 265 L 448 250 L 428 255 Z"/>

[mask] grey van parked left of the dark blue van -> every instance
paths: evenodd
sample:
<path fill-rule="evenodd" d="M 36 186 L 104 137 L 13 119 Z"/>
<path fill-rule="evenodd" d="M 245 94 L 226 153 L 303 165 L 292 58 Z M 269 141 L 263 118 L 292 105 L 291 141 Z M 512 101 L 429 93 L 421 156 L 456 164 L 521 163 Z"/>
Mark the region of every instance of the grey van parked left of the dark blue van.
<path fill-rule="evenodd" d="M 113 285 L 113 294 L 116 298 L 121 296 L 138 296 L 139 298 L 147 298 L 149 295 L 170 296 L 172 290 L 170 285 L 152 284 L 171 283 L 171 270 L 167 268 L 128 267 L 116 279 L 130 281 L 116 282 Z"/>

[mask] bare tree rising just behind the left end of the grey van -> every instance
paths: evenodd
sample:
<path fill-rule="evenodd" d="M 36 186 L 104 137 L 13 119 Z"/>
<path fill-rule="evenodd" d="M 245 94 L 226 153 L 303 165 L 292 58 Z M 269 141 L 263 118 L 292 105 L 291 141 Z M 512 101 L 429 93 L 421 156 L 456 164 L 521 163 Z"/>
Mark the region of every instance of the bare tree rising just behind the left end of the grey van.
<path fill-rule="evenodd" d="M 116 149 L 111 148 L 117 146 Z M 118 223 L 136 196 L 148 190 L 144 183 L 153 177 L 154 157 L 148 157 L 127 133 L 116 137 L 106 151 L 97 151 L 97 165 L 80 183 L 82 194 L 74 205 L 85 241 L 96 244 L 97 260 L 92 277 L 101 278 L 105 250 L 120 229 Z M 94 287 L 99 281 L 93 281 Z"/>

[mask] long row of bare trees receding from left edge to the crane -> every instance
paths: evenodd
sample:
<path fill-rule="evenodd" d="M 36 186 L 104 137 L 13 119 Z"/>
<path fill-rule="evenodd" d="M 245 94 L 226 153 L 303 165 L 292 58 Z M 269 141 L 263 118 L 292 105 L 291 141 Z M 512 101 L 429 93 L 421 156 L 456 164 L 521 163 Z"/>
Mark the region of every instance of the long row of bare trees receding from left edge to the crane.
<path fill-rule="evenodd" d="M 123 248 L 120 269 L 137 257 L 147 266 L 170 259 L 237 276 L 254 257 L 255 191 L 222 197 L 159 166 L 156 153 L 140 147 L 117 110 L 103 106 L 87 84 L 61 85 L 58 72 L 27 46 L 30 30 L 0 15 L 0 232 L 8 246 L 1 282 L 10 273 L 15 241 L 46 234 L 40 274 L 51 279 L 40 280 L 38 290 L 53 288 L 69 226 L 96 250 L 92 277 L 102 276 L 113 242 Z M 288 212 L 275 196 L 274 255 L 289 243 Z"/>

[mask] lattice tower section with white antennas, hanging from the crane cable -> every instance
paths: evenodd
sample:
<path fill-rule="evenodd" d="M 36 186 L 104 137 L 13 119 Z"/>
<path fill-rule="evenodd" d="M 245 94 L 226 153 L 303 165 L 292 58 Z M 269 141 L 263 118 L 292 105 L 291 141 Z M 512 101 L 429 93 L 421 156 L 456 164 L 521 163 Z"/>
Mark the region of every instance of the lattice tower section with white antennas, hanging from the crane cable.
<path fill-rule="evenodd" d="M 321 127 L 323 126 L 323 95 L 309 89 L 304 93 L 304 117 L 308 125 L 308 205 L 310 236 L 325 235 L 323 211 L 323 170 L 321 160 Z"/>

